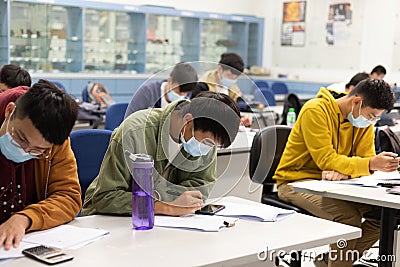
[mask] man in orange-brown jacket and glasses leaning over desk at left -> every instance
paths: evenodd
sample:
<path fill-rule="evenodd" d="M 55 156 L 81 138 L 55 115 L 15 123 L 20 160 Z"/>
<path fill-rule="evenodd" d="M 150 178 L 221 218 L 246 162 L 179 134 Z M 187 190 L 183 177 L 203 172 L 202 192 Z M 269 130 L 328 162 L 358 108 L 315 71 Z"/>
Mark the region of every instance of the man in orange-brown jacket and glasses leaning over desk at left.
<path fill-rule="evenodd" d="M 71 221 L 82 206 L 69 133 L 76 102 L 40 80 L 0 94 L 0 246 Z"/>

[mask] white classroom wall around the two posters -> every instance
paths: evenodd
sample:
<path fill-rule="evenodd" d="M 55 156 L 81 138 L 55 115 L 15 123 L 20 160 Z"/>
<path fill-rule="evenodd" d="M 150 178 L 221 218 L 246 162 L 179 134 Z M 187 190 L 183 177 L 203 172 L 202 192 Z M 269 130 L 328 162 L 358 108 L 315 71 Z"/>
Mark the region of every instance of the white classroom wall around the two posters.
<path fill-rule="evenodd" d="M 370 72 L 375 65 L 382 64 L 388 70 L 386 80 L 400 83 L 400 27 L 396 27 L 400 24 L 400 1 L 307 0 L 305 46 L 282 47 L 280 35 L 286 1 L 290 0 L 136 0 L 134 4 L 264 17 L 263 65 L 270 68 L 271 78 L 281 73 L 293 80 L 348 81 L 355 73 Z M 331 47 L 325 43 L 329 4 L 340 2 L 351 3 L 352 38 L 347 46 Z"/>

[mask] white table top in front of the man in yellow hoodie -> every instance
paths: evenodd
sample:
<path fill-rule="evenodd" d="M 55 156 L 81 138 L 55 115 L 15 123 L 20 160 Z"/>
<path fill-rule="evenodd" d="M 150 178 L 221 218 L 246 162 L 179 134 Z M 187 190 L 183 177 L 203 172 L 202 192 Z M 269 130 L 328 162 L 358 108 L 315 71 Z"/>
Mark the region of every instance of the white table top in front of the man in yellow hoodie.
<path fill-rule="evenodd" d="M 387 188 L 383 187 L 364 187 L 320 180 L 291 185 L 296 192 L 400 209 L 400 196 L 386 193 Z"/>

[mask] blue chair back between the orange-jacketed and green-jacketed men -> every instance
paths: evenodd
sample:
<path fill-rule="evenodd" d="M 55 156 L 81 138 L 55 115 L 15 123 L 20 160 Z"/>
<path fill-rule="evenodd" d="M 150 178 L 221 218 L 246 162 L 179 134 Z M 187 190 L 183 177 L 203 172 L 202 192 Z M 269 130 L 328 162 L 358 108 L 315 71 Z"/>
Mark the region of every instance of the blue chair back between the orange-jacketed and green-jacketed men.
<path fill-rule="evenodd" d="M 85 198 L 86 189 L 99 174 L 111 134 L 112 131 L 104 129 L 75 130 L 70 134 L 72 151 L 78 165 L 82 201 Z"/>

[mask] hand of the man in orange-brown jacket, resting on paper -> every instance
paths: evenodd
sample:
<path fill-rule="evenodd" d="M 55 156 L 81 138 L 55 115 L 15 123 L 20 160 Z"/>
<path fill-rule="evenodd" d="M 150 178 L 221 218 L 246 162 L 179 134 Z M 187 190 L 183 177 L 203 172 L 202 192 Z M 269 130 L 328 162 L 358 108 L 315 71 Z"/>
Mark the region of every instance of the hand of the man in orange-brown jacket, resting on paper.
<path fill-rule="evenodd" d="M 9 250 L 11 246 L 18 247 L 30 223 L 30 219 L 25 215 L 11 216 L 0 225 L 0 246 L 4 245 L 5 250 Z"/>

